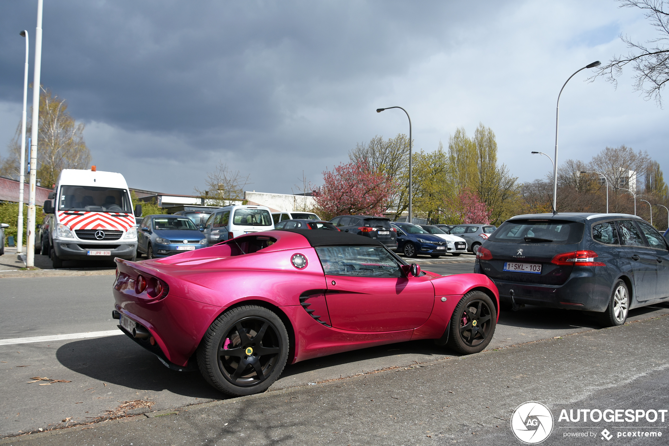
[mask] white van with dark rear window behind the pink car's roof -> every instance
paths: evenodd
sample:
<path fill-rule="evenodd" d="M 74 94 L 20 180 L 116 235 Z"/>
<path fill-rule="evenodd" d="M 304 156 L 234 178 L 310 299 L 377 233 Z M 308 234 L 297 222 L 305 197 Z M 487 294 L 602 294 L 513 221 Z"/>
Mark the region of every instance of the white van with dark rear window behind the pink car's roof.
<path fill-rule="evenodd" d="M 219 241 L 270 229 L 274 229 L 274 221 L 268 207 L 230 205 L 216 209 L 209 216 L 203 233 L 211 246 Z"/>

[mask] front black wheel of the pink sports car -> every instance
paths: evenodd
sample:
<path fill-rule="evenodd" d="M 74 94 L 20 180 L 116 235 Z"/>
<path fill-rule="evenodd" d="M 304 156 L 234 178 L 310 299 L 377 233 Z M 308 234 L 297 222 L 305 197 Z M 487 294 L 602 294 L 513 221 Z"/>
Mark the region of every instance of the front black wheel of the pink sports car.
<path fill-rule="evenodd" d="M 450 321 L 448 346 L 460 353 L 478 353 L 492 340 L 497 312 L 490 296 L 471 291 L 458 302 Z"/>

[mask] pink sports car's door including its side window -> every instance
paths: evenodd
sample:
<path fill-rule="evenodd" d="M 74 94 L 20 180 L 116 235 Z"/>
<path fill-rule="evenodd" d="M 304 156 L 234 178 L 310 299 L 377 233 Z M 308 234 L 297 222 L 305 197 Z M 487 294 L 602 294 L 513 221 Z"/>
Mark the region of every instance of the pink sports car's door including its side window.
<path fill-rule="evenodd" d="M 316 248 L 325 272 L 332 327 L 355 332 L 393 332 L 421 326 L 432 312 L 429 276 L 406 277 L 383 247 Z"/>

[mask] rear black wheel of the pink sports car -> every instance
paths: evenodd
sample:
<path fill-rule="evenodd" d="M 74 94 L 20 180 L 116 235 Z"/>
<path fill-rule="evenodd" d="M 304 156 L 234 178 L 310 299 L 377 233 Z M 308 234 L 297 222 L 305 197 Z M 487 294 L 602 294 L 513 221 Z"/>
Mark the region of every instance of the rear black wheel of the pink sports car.
<path fill-rule="evenodd" d="M 227 395 L 259 393 L 288 360 L 288 332 L 274 312 L 242 306 L 225 312 L 207 330 L 197 352 L 205 380 Z"/>

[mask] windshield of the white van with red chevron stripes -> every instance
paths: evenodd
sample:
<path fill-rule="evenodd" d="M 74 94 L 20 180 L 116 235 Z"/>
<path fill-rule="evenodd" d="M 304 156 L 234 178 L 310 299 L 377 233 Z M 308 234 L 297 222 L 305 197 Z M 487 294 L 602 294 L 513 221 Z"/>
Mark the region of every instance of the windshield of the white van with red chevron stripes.
<path fill-rule="evenodd" d="M 132 213 L 132 203 L 126 189 L 61 186 L 58 210 Z"/>

